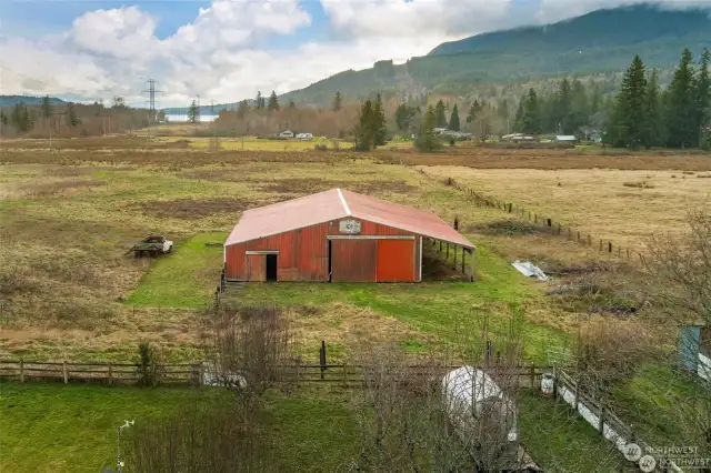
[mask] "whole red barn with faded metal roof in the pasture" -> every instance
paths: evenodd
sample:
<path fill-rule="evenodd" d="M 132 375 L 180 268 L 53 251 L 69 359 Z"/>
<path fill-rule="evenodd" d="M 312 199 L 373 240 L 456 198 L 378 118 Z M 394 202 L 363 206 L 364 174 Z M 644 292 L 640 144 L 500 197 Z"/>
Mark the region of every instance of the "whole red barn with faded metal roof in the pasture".
<path fill-rule="evenodd" d="M 437 215 L 333 189 L 246 211 L 224 242 L 224 278 L 417 282 L 423 238 L 461 246 L 473 263 L 474 245 Z"/>

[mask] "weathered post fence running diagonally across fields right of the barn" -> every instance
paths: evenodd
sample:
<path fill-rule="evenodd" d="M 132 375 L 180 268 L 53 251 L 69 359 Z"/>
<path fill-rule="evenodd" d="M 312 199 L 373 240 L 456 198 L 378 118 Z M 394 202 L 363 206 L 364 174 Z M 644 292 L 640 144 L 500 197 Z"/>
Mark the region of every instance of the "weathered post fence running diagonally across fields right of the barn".
<path fill-rule="evenodd" d="M 428 174 L 423 169 L 420 169 L 420 172 L 428 178 L 437 179 L 435 177 Z M 619 244 L 613 244 L 612 241 L 607 239 L 593 238 L 590 233 L 584 233 L 572 227 L 563 225 L 553 218 L 531 212 L 530 210 L 511 202 L 504 202 L 502 200 L 481 194 L 471 188 L 461 185 L 452 178 L 445 178 L 444 184 L 451 185 L 458 191 L 464 193 L 478 207 L 499 209 L 502 212 L 518 215 L 521 219 L 527 219 L 529 222 L 532 222 L 543 229 L 551 236 L 565 238 L 569 241 L 584 246 L 593 246 L 597 244 L 599 252 L 617 255 L 618 258 L 624 258 L 628 261 L 633 258 L 639 258 L 641 261 L 643 260 L 643 255 L 631 248 L 623 248 Z"/>

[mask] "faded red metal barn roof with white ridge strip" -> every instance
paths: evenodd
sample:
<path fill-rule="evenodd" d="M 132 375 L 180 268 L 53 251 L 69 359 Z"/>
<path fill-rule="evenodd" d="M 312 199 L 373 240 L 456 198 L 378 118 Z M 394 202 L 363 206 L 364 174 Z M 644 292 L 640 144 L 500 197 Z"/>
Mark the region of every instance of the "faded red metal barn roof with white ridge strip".
<path fill-rule="evenodd" d="M 469 240 L 431 212 L 340 189 L 248 210 L 224 244 L 242 243 L 348 217 L 474 248 Z"/>

